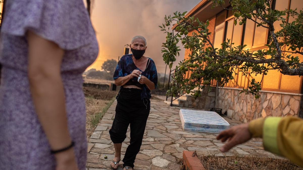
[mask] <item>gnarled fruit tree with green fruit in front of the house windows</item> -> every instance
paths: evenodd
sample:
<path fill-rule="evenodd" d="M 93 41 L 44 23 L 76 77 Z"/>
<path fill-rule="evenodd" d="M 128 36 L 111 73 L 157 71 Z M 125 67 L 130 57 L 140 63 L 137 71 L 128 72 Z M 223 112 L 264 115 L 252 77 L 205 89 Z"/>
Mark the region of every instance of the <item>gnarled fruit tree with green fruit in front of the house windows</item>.
<path fill-rule="evenodd" d="M 207 26 L 209 21 L 201 22 L 198 18 L 187 17 L 185 13 L 175 12 L 173 16 L 165 15 L 165 24 L 159 26 L 166 33 L 166 42 L 162 43 L 163 60 L 171 68 L 176 61 L 181 49 L 177 46 L 182 42 L 184 47 L 190 49 L 189 58 L 183 60 L 176 67 L 174 83 L 181 84 L 180 87 L 172 87 L 168 95 L 178 92 L 187 93 L 198 87 L 195 97 L 200 96 L 200 90 L 207 87 L 210 90 L 211 80 L 217 80 L 224 87 L 229 80 L 234 78 L 236 68 L 243 75 L 266 75 L 268 70 L 277 70 L 285 75 L 303 75 L 303 62 L 299 60 L 298 54 L 303 54 L 303 10 L 273 9 L 273 0 L 230 0 L 231 9 L 235 16 L 235 25 L 245 24 L 247 20 L 256 23 L 257 27 L 268 28 L 270 37 L 265 50 L 244 50 L 244 45 L 235 46 L 230 39 L 224 41 L 222 48 L 215 48 L 210 41 Z M 213 7 L 222 6 L 224 0 L 212 0 Z M 226 9 L 226 8 L 225 8 Z M 285 17 L 285 15 L 287 17 Z M 294 21 L 287 22 L 286 18 L 294 17 Z M 257 18 L 257 20 L 255 20 Z M 177 21 L 176 28 L 167 28 L 172 21 Z M 274 22 L 281 21 L 281 30 L 275 31 Z M 166 27 L 165 27 L 166 26 Z M 188 30 L 196 30 L 191 36 L 187 36 Z M 285 50 L 283 50 L 285 48 Z M 202 64 L 205 63 L 206 64 Z M 201 65 L 199 65 L 201 64 Z M 184 78 L 184 74 L 190 70 L 191 76 Z M 263 78 L 262 78 L 263 80 Z M 251 80 L 247 88 L 242 92 L 253 94 L 259 98 L 261 82 Z"/>

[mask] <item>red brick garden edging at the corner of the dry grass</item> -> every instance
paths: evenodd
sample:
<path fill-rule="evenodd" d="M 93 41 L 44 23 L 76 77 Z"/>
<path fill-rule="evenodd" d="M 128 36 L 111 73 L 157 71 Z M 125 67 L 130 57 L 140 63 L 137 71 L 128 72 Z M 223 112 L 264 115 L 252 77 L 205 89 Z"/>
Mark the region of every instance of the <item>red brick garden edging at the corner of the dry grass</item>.
<path fill-rule="evenodd" d="M 194 151 L 183 151 L 183 163 L 186 170 L 205 170 Z M 194 156 L 193 156 L 194 155 Z"/>

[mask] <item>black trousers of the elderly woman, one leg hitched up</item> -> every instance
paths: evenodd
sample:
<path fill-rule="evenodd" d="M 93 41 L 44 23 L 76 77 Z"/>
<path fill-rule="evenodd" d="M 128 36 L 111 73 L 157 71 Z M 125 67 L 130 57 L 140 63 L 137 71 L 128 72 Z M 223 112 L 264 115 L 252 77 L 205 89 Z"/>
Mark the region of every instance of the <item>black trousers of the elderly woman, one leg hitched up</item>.
<path fill-rule="evenodd" d="M 116 115 L 109 134 L 113 143 L 122 143 L 130 125 L 131 139 L 125 152 L 123 167 L 134 167 L 150 111 L 150 101 L 146 98 L 142 100 L 141 92 L 140 89 L 122 88 L 117 96 Z"/>

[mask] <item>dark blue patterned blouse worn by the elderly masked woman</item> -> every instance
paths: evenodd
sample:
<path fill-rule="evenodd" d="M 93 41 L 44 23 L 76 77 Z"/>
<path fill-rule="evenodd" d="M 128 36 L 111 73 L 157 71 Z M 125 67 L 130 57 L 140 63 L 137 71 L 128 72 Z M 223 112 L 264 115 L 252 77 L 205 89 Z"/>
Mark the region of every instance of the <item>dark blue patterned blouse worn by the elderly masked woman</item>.
<path fill-rule="evenodd" d="M 114 73 L 114 80 L 118 77 L 125 77 L 128 74 L 131 74 L 134 70 L 140 70 L 132 60 L 132 54 L 126 54 L 121 57 L 121 59 L 118 62 L 118 65 L 116 67 L 115 73 Z M 140 70 L 142 71 L 142 70 Z M 155 62 L 150 59 L 150 62 L 146 69 L 142 71 L 143 76 L 147 77 L 151 82 L 155 83 L 155 88 L 157 87 L 158 83 L 158 75 L 157 75 L 157 69 Z M 134 77 L 137 79 L 137 77 Z M 143 98 L 151 98 L 151 93 L 148 87 L 144 84 L 142 87 L 142 93 L 141 93 L 141 99 Z"/>

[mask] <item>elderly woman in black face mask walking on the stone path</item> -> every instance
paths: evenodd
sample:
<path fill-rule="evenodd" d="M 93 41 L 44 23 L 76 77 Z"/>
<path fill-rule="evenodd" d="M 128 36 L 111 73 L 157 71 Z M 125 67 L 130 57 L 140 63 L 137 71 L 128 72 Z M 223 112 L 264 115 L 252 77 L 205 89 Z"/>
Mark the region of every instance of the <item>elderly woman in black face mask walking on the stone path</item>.
<path fill-rule="evenodd" d="M 146 40 L 135 36 L 130 44 L 133 54 L 121 57 L 114 73 L 115 84 L 121 86 L 116 97 L 116 115 L 109 130 L 115 146 L 115 158 L 111 163 L 112 169 L 118 168 L 121 157 L 122 142 L 126 138 L 130 124 L 130 145 L 123 159 L 124 169 L 132 169 L 138 154 L 145 131 L 146 121 L 150 110 L 150 91 L 157 87 L 158 76 L 154 61 L 143 56 Z"/>

